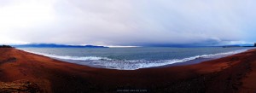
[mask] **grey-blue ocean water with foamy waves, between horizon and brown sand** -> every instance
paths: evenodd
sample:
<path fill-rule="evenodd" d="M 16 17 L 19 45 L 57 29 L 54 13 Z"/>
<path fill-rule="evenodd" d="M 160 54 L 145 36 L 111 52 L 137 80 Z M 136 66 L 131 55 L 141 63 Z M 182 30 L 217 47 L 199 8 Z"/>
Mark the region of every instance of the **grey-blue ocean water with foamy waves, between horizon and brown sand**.
<path fill-rule="evenodd" d="M 135 70 L 189 61 L 206 61 L 246 51 L 245 47 L 222 48 L 19 48 L 27 52 L 90 67 Z M 204 59 L 204 60 L 202 60 Z"/>

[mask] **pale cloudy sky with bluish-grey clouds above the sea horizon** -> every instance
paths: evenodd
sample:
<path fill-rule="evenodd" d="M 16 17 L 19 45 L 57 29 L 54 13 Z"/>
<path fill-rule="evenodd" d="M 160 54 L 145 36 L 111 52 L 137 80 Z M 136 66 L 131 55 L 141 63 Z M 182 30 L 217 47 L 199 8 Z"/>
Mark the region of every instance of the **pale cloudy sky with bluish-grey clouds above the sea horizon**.
<path fill-rule="evenodd" d="M 256 42 L 255 0 L 0 0 L 0 44 Z"/>

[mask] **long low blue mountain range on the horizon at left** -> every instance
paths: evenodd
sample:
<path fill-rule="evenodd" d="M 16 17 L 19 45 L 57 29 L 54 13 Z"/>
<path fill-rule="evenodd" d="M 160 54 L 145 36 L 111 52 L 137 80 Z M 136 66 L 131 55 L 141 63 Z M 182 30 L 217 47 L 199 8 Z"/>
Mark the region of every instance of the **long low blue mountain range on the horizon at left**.
<path fill-rule="evenodd" d="M 96 45 L 66 45 L 66 44 L 20 44 L 12 45 L 16 48 L 108 48 Z"/>

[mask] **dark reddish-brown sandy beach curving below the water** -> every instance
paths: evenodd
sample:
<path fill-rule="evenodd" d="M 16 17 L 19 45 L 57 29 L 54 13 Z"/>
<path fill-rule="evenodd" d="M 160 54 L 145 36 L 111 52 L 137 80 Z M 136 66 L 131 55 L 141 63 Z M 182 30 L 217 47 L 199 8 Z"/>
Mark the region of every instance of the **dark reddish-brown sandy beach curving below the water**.
<path fill-rule="evenodd" d="M 256 49 L 212 61 L 137 70 L 86 67 L 0 48 L 0 92 L 256 92 Z"/>

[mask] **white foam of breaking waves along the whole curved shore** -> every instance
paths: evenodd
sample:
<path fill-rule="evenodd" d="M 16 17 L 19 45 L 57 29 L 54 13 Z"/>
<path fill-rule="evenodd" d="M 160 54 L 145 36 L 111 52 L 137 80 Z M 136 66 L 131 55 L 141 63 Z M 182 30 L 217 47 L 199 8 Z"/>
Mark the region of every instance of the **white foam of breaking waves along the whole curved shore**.
<path fill-rule="evenodd" d="M 97 56 L 69 56 L 69 55 L 49 55 L 44 53 L 37 53 L 32 51 L 33 54 L 38 55 L 45 55 L 49 56 L 55 59 L 61 59 L 61 60 L 69 60 L 69 61 L 75 61 L 73 63 L 77 63 L 80 65 L 93 65 L 97 67 L 105 67 L 109 69 L 118 69 L 118 70 L 136 70 L 139 68 L 146 68 L 146 67 L 160 67 L 165 65 L 170 65 L 173 63 L 178 62 L 184 62 L 184 61 L 193 61 L 195 59 L 199 58 L 219 58 L 227 55 L 234 55 L 237 53 L 241 53 L 246 51 L 247 49 L 242 50 L 236 50 L 236 51 L 230 51 L 230 52 L 224 52 L 224 53 L 218 53 L 218 54 L 210 54 L 210 55 L 195 55 L 188 58 L 183 59 L 172 59 L 172 60 L 160 60 L 160 61 L 145 61 L 145 60 L 136 60 L 136 61 L 119 61 L 119 60 L 113 60 L 106 57 L 97 57 Z M 77 62 L 76 62 L 77 61 Z"/>

